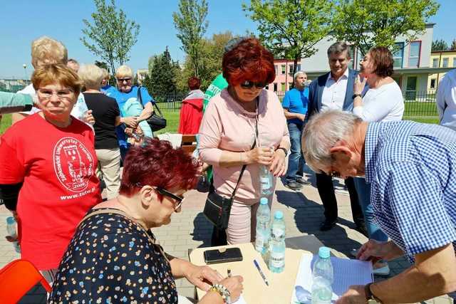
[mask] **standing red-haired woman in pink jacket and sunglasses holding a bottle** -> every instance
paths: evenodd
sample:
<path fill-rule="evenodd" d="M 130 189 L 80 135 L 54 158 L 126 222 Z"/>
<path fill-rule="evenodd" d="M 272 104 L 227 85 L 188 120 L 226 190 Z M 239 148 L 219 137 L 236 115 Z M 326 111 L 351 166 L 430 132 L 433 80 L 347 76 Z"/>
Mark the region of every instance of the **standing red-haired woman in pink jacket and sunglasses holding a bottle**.
<path fill-rule="evenodd" d="M 247 165 L 226 232 L 228 243 L 248 243 L 255 239 L 260 166 L 274 175 L 274 189 L 276 177 L 286 172 L 290 140 L 279 98 L 264 90 L 276 76 L 272 53 L 258 39 L 244 38 L 224 53 L 222 70 L 228 88 L 214 96 L 204 112 L 199 154 L 214 167 L 215 192 L 225 198 L 232 196 L 242 167 Z"/>

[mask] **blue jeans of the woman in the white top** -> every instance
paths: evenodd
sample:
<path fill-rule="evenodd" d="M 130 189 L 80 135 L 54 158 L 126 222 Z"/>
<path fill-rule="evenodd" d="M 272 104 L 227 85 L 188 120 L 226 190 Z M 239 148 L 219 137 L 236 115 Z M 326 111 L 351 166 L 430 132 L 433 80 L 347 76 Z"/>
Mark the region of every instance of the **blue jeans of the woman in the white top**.
<path fill-rule="evenodd" d="M 355 177 L 354 181 L 356 192 L 358 192 L 359 204 L 361 205 L 361 210 L 363 210 L 364 221 L 366 222 L 369 239 L 380 242 L 388 241 L 388 236 L 373 221 L 371 184 L 366 183 L 366 179 L 361 177 Z"/>

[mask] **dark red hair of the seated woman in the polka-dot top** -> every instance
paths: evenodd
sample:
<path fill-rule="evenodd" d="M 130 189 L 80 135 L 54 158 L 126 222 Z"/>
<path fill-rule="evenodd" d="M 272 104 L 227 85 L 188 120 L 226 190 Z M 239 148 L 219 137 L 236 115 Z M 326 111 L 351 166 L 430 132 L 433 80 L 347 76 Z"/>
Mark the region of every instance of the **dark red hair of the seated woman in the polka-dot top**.
<path fill-rule="evenodd" d="M 130 197 L 145 185 L 167 190 L 192 189 L 198 181 L 198 167 L 197 161 L 182 148 L 173 149 L 168 141 L 147 139 L 142 146 L 130 147 L 123 162 L 119 193 Z"/>

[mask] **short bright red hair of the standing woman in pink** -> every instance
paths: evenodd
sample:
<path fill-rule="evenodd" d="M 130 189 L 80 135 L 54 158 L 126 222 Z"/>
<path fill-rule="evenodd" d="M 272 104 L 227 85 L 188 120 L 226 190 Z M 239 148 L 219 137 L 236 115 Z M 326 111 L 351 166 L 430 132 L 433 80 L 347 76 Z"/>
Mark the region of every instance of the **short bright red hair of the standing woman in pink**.
<path fill-rule="evenodd" d="M 246 80 L 272 83 L 276 78 L 274 56 L 257 38 L 245 38 L 225 53 L 222 70 L 229 85 L 239 85 Z"/>

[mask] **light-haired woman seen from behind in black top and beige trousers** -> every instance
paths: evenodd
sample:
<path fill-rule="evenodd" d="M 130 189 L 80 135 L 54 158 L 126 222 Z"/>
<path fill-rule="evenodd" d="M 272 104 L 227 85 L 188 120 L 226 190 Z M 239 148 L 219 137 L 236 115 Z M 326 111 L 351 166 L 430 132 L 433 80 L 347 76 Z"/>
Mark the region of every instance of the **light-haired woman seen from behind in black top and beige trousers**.
<path fill-rule="evenodd" d="M 103 176 L 108 199 L 117 196 L 120 187 L 120 150 L 115 127 L 123 123 L 114 98 L 100 92 L 103 71 L 98 66 L 82 65 L 78 71 L 86 91 L 87 106 L 95 117 L 95 152 L 98 158 L 98 177 Z"/>

